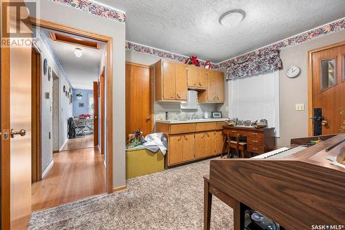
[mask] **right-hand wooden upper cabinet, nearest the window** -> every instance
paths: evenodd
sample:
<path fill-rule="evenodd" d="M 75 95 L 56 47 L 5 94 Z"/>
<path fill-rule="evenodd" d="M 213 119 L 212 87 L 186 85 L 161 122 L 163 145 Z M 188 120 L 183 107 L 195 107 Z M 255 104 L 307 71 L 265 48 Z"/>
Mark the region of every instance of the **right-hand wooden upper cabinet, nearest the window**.
<path fill-rule="evenodd" d="M 208 70 L 208 88 L 199 93 L 199 102 L 224 102 L 224 73 L 221 71 Z"/>

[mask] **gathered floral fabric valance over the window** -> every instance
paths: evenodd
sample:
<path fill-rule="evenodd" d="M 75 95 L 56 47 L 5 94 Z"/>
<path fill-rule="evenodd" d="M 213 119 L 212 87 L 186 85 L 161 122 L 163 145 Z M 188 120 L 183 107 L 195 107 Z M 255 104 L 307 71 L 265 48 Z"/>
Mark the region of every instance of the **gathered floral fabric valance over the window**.
<path fill-rule="evenodd" d="M 226 65 L 226 79 L 277 70 L 282 67 L 279 50 L 259 50 L 232 59 Z"/>

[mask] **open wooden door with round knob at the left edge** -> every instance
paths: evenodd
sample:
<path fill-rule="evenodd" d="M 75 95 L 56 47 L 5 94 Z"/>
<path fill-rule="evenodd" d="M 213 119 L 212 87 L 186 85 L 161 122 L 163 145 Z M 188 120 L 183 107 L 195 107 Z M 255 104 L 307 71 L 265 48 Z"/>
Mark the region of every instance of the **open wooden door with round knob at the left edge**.
<path fill-rule="evenodd" d="M 3 25 L 30 32 L 23 23 L 16 30 L 16 10 L 1 12 Z M 1 46 L 1 229 L 26 229 L 30 219 L 31 52 L 28 45 Z"/>

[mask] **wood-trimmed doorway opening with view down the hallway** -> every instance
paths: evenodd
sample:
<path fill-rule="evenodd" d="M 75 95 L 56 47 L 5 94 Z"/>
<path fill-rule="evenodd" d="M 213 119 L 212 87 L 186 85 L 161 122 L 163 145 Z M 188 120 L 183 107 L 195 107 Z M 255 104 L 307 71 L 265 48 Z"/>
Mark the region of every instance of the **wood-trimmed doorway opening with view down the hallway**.
<path fill-rule="evenodd" d="M 32 211 L 112 192 L 112 39 L 40 26 L 32 49 Z"/>

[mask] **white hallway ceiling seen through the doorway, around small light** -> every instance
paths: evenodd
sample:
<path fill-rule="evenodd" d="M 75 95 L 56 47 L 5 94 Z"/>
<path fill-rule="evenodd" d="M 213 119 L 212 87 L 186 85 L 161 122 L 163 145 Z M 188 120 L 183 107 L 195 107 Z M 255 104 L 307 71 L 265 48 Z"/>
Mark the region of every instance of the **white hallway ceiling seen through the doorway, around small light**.
<path fill-rule="evenodd" d="M 49 37 L 49 36 L 48 36 Z M 83 46 L 52 41 L 50 44 L 59 58 L 63 70 L 65 70 L 72 88 L 90 89 L 93 88 L 93 82 L 97 82 L 99 74 L 99 65 L 103 55 L 104 46 L 96 50 Z M 83 55 L 75 56 L 75 48 L 81 48 Z"/>

